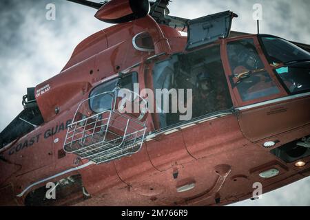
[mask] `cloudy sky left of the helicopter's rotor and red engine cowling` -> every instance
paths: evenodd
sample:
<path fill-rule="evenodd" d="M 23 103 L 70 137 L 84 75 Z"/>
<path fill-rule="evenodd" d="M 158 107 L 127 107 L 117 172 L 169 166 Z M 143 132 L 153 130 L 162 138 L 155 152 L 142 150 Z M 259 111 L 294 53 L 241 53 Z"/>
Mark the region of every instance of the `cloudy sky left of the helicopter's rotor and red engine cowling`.
<path fill-rule="evenodd" d="M 48 21 L 45 5 L 56 5 L 56 20 Z M 74 47 L 108 25 L 96 20 L 96 10 L 68 1 L 0 2 L 0 130 L 22 110 L 21 98 L 58 74 Z"/>

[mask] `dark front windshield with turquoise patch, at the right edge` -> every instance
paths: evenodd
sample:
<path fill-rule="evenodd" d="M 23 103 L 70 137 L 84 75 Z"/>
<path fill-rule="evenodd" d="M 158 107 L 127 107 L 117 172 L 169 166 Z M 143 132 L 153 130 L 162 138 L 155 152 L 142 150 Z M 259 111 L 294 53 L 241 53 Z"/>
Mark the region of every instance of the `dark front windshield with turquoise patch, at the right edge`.
<path fill-rule="evenodd" d="M 269 65 L 289 94 L 310 91 L 310 53 L 278 37 L 260 39 Z"/>

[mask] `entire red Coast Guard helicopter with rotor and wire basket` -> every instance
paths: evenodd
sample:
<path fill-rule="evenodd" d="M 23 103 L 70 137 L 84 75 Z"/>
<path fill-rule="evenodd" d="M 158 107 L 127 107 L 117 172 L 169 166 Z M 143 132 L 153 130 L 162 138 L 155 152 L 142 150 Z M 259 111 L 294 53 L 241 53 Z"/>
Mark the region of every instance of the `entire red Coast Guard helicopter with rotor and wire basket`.
<path fill-rule="evenodd" d="M 1 206 L 225 206 L 310 175 L 310 45 L 231 31 L 231 11 L 68 1 L 114 25 L 27 89 Z"/>

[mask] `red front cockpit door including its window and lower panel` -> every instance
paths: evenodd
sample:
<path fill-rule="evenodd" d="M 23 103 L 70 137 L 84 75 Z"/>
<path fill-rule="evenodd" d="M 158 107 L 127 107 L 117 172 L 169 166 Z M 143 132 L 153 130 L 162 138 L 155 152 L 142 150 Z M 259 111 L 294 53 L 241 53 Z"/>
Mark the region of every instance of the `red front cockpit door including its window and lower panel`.
<path fill-rule="evenodd" d="M 256 142 L 296 127 L 299 114 L 293 111 L 298 103 L 281 102 L 287 93 L 273 74 L 258 39 L 227 41 L 225 46 L 229 64 L 225 71 L 245 137 Z"/>

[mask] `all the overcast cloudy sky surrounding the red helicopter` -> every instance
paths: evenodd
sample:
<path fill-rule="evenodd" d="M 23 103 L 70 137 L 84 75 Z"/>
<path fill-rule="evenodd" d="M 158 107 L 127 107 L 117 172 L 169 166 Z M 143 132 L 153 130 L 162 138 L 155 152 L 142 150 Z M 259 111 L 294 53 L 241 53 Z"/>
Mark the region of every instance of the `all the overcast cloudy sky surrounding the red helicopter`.
<path fill-rule="evenodd" d="M 56 6 L 54 21 L 45 18 L 48 3 Z M 188 19 L 231 10 L 239 15 L 232 30 L 256 33 L 254 3 L 262 5 L 261 33 L 310 44 L 309 0 L 174 0 L 169 10 Z M 58 74 L 80 41 L 109 26 L 96 20 L 95 12 L 65 0 L 0 1 L 0 131 L 22 110 L 27 87 Z M 236 205 L 310 206 L 310 178 Z"/>

